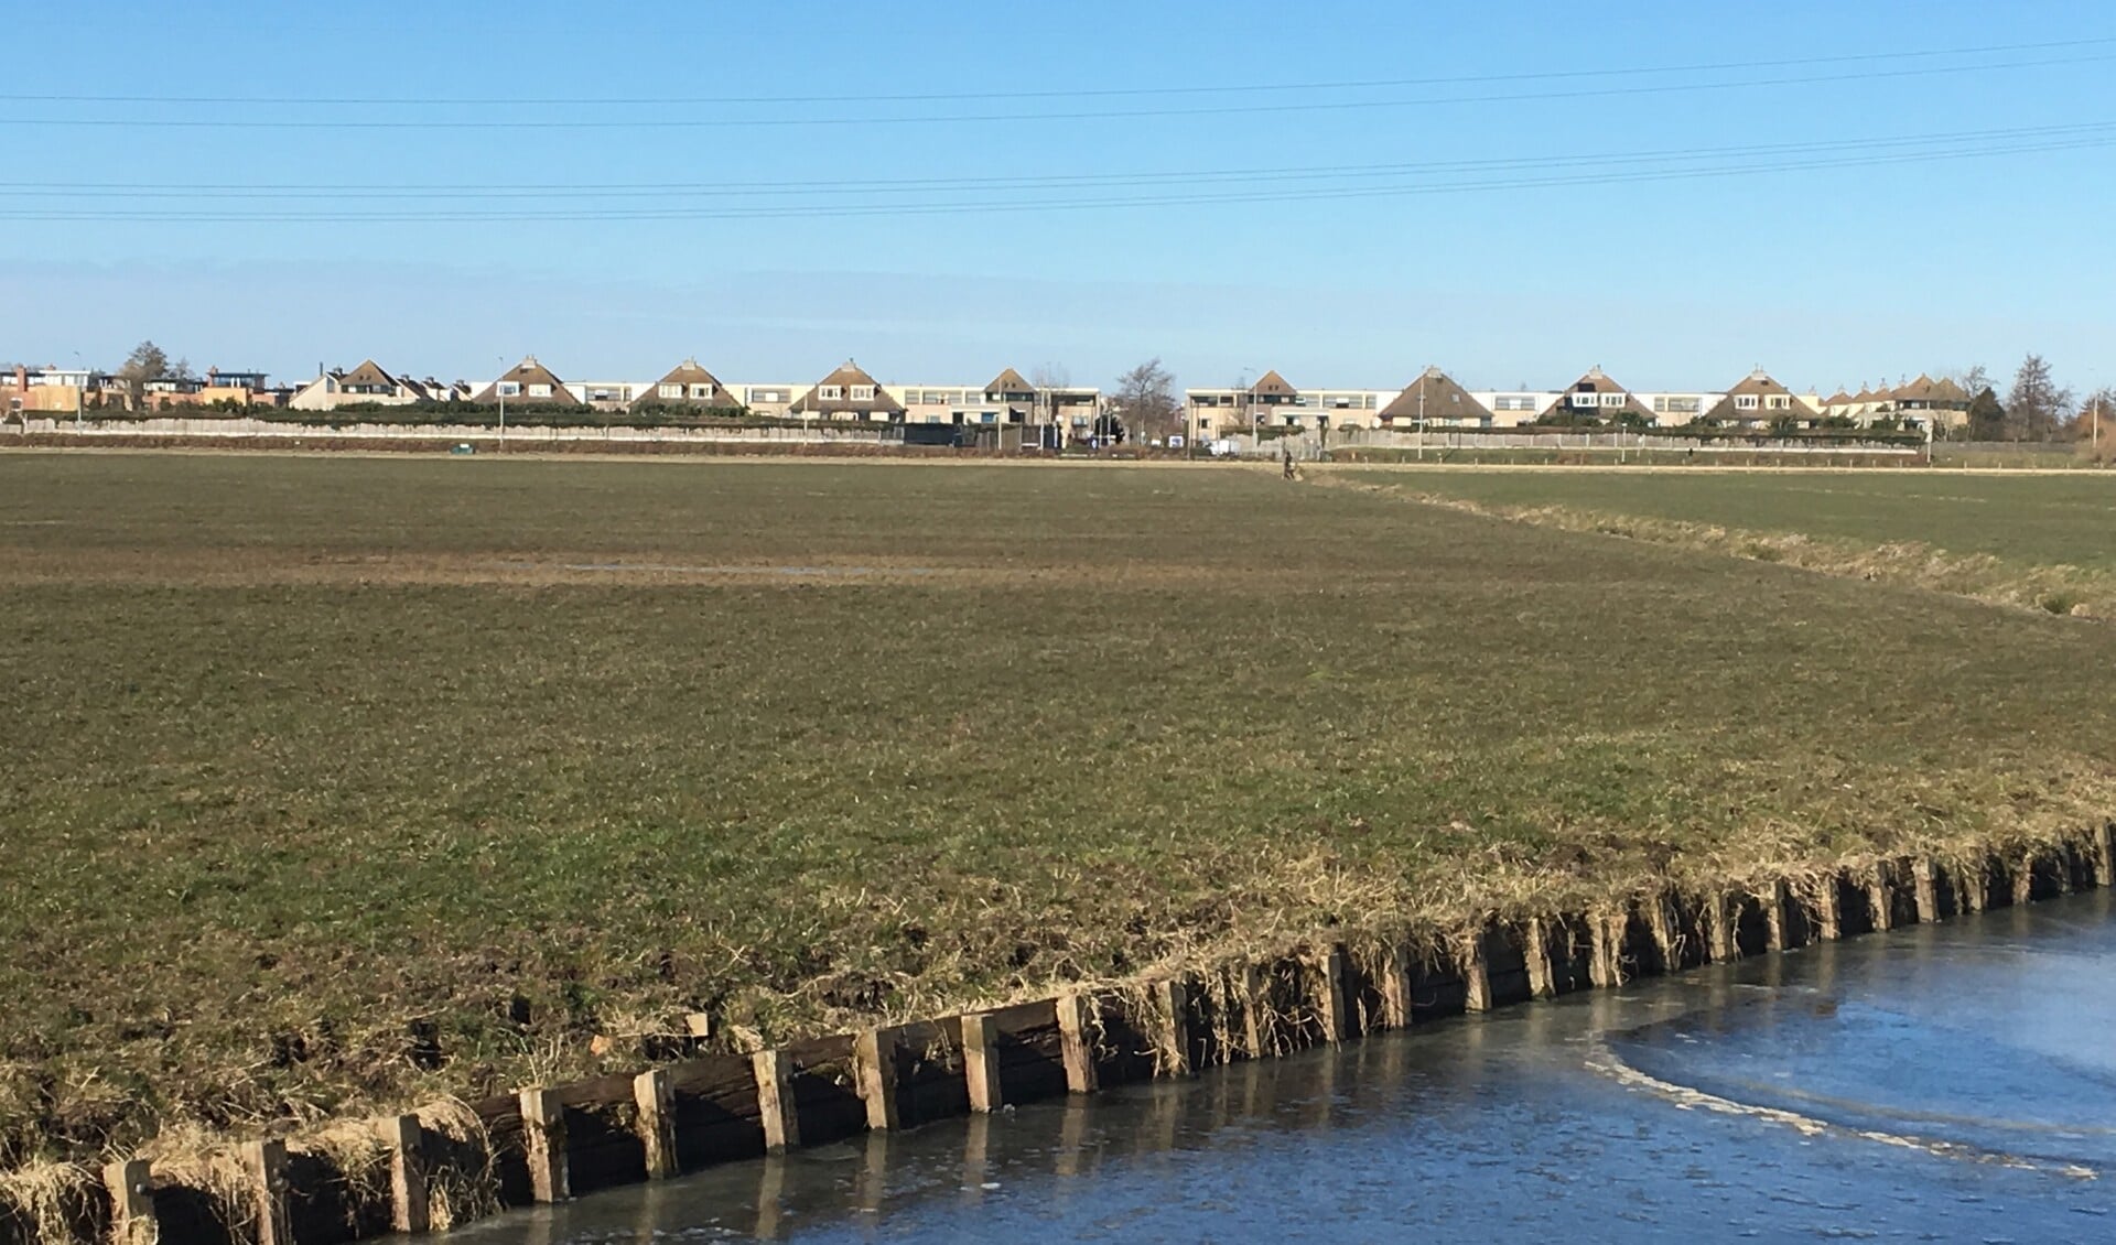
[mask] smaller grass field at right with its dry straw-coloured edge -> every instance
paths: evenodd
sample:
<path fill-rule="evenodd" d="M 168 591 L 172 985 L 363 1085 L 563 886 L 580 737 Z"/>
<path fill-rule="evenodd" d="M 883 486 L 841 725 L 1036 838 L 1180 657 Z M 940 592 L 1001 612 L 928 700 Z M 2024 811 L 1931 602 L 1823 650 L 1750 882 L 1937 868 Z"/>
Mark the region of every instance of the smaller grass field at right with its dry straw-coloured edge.
<path fill-rule="evenodd" d="M 1329 469 L 1477 514 L 2116 617 L 2116 480 L 1962 473 Z"/>

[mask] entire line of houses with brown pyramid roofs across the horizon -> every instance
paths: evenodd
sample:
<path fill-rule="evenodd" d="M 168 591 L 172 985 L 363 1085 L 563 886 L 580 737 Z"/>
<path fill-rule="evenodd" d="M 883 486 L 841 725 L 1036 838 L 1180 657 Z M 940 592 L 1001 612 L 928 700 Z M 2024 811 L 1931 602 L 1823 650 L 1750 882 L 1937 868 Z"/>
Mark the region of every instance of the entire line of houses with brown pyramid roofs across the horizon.
<path fill-rule="evenodd" d="M 436 380 L 389 372 L 375 359 L 355 368 L 317 370 L 303 385 L 269 385 L 262 372 L 152 378 L 133 395 L 116 376 L 66 368 L 15 368 L 6 408 L 68 412 L 127 406 L 284 406 L 322 412 L 358 406 L 470 402 L 480 406 L 588 406 L 628 414 L 749 414 L 798 421 L 878 421 L 920 425 L 1033 425 L 1086 438 L 1111 404 L 1094 387 L 1035 385 L 1014 368 L 984 385 L 880 383 L 855 361 L 815 383 L 724 383 L 698 359 L 683 359 L 656 380 L 565 380 L 535 355 L 489 383 Z M 6 380 L 0 376 L 0 380 Z M 1769 427 L 1852 421 L 1898 421 L 1953 427 L 1968 421 L 1970 393 L 1953 380 L 1919 376 L 1896 387 L 1839 389 L 1830 397 L 1794 393 L 1771 374 L 1750 372 L 1722 391 L 1636 391 L 1600 366 L 1566 389 L 1464 389 L 1439 368 L 1426 368 L 1403 389 L 1299 389 L 1276 370 L 1255 385 L 1187 389 L 1183 429 L 1200 440 L 1251 429 L 1507 429 L 1534 423 L 1631 423 L 1674 427 L 1695 421 L 1720 427 Z M 1121 412 L 1117 412 L 1121 419 Z"/>

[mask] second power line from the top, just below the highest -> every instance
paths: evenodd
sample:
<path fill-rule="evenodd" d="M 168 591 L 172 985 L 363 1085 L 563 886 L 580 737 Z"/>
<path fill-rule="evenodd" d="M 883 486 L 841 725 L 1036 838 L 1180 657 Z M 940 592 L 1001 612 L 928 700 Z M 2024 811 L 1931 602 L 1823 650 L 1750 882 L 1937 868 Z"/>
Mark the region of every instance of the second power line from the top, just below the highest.
<path fill-rule="evenodd" d="M 2116 61 L 2116 53 L 2095 53 L 2080 57 L 2046 57 L 2023 61 L 1995 61 L 1985 66 L 1930 66 L 1915 70 L 1873 70 L 1862 72 L 1856 82 L 1930 78 L 1938 74 L 1978 74 L 1989 70 L 2036 70 L 2053 66 L 2088 66 Z M 1602 74 L 1606 76 L 1606 74 Z M 1631 87 L 1600 87 L 1579 91 L 1528 91 L 1490 95 L 1449 95 L 1439 99 L 1310 99 L 1297 104 L 1225 104 L 1212 108 L 1124 108 L 1124 110 L 1077 110 L 1077 112 L 959 112 L 925 116 L 681 116 L 681 118 L 514 118 L 514 120 L 245 120 L 245 118 L 180 118 L 180 116 L 0 116 L 0 127 L 66 127 L 66 129 L 241 129 L 241 131 L 290 131 L 290 129 L 336 129 L 336 131 L 521 131 L 521 129 L 567 129 L 567 131 L 614 131 L 614 129 L 787 129 L 787 127 L 863 127 L 863 125 L 973 125 L 973 123 L 1018 123 L 1018 120 L 1151 120 L 1185 116 L 1263 116 L 1299 112 L 1365 112 L 1388 108 L 1449 108 L 1460 104 L 1521 104 L 1521 101 L 1566 101 L 1566 99 L 1612 99 L 1640 95 L 1678 95 L 1691 91 L 1748 91 L 1758 87 L 1801 87 L 1816 82 L 1845 82 L 1832 74 L 1794 74 L 1777 78 L 1741 78 L 1733 82 L 1655 82 Z"/>

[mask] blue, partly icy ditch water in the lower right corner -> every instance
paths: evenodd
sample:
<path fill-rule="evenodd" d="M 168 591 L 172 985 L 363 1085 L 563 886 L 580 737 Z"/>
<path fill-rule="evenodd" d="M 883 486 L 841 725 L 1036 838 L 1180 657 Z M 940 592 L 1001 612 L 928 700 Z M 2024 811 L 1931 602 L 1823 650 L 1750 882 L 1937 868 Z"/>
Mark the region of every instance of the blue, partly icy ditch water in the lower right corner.
<path fill-rule="evenodd" d="M 2116 1171 L 2112 964 L 2110 894 L 2091 892 L 868 1135 L 463 1234 L 2105 1237 L 2116 1188 L 2078 1173 Z"/>

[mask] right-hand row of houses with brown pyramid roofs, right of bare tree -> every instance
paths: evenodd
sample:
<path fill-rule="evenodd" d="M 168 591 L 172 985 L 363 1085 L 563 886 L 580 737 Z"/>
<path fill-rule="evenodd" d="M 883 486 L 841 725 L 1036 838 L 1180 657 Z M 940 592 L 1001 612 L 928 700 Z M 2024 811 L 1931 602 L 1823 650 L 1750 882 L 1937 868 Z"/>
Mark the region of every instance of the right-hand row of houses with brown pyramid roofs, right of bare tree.
<path fill-rule="evenodd" d="M 1634 423 L 1676 427 L 1807 427 L 1849 419 L 1860 425 L 1898 421 L 1917 427 L 1968 423 L 1970 393 L 1953 380 L 1919 376 L 1896 387 L 1839 389 L 1830 397 L 1794 393 L 1763 368 L 1722 391 L 1640 391 L 1600 366 L 1566 389 L 1464 389 L 1439 368 L 1426 368 L 1403 389 L 1295 389 L 1278 372 L 1255 385 L 1185 389 L 1185 423 L 1200 438 L 1259 427 L 1291 429 L 1507 429 L 1534 423 Z"/>

